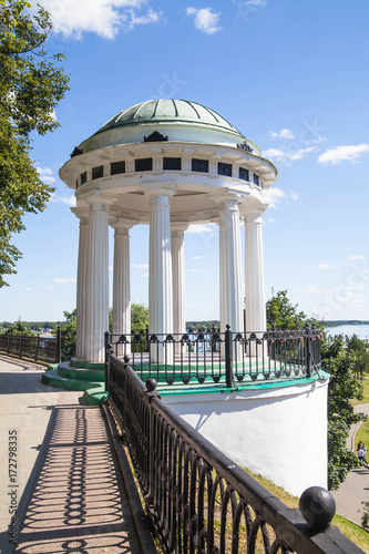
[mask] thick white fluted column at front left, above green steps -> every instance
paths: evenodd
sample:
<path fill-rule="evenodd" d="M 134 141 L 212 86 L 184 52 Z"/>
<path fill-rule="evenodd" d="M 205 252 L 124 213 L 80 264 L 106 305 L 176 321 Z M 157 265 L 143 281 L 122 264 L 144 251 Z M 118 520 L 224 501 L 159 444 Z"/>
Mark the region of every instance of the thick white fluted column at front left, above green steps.
<path fill-rule="evenodd" d="M 90 362 L 101 363 L 104 332 L 109 330 L 109 202 L 99 193 L 86 202 L 91 207 L 85 357 Z"/>

